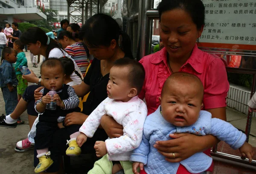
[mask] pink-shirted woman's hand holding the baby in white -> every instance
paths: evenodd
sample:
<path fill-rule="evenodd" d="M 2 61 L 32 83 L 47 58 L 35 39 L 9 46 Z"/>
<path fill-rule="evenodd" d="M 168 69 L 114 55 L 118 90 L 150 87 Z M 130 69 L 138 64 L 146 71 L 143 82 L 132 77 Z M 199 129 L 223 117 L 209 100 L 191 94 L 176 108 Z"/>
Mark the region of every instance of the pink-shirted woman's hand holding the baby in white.
<path fill-rule="evenodd" d="M 116 123 L 113 117 L 103 115 L 100 124 L 110 138 L 118 138 L 124 134 L 122 125 Z"/>

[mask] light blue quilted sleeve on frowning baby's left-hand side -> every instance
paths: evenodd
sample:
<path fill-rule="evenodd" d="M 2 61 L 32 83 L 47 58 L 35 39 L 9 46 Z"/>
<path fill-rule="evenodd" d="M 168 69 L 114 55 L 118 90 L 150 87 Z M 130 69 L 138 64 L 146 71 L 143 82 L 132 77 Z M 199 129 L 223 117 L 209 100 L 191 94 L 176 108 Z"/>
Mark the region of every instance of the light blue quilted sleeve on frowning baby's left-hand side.
<path fill-rule="evenodd" d="M 149 147 L 149 140 L 145 137 L 143 134 L 142 141 L 140 143 L 140 146 L 132 152 L 130 156 L 131 162 L 139 162 L 143 163 L 144 165 L 147 164 L 147 156 L 150 151 Z"/>

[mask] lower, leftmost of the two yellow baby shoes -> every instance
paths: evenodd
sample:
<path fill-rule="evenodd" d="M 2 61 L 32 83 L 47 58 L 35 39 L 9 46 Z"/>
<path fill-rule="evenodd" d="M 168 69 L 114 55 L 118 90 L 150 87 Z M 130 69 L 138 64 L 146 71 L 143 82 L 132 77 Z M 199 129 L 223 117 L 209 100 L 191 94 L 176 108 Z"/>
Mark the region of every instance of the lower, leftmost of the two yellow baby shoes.
<path fill-rule="evenodd" d="M 50 157 L 50 154 L 51 152 L 48 151 L 44 156 L 38 158 L 39 163 L 35 167 L 35 173 L 41 173 L 43 171 L 46 171 L 47 168 L 49 168 L 52 165 L 53 161 Z"/>

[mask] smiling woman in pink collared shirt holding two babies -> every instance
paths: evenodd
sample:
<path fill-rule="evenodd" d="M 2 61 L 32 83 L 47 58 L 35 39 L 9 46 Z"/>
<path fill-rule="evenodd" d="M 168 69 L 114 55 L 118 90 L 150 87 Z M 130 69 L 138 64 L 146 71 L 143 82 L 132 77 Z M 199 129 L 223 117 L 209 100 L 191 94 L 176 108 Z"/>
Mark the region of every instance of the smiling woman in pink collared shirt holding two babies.
<path fill-rule="evenodd" d="M 204 29 L 204 4 L 201 0 L 162 0 L 157 9 L 160 37 L 165 48 L 140 60 L 146 77 L 139 97 L 145 97 L 148 114 L 160 105 L 159 97 L 167 77 L 183 71 L 201 79 L 204 85 L 203 109 L 211 112 L 212 117 L 226 120 L 229 83 L 224 63 L 198 49 L 196 44 Z M 120 134 L 119 125 L 111 121 L 111 118 L 104 117 L 101 123 L 111 137 Z M 218 139 L 212 135 L 173 134 L 170 137 L 174 140 L 157 142 L 154 146 L 169 162 L 180 162 L 218 143 Z M 205 153 L 209 154 L 209 150 Z"/>

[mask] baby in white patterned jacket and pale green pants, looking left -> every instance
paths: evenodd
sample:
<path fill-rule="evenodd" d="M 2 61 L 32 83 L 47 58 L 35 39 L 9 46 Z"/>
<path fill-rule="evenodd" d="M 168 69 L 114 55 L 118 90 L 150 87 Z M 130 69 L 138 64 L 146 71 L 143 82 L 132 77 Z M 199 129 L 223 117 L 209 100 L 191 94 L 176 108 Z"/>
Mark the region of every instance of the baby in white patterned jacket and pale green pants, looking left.
<path fill-rule="evenodd" d="M 110 70 L 107 85 L 108 97 L 89 115 L 79 132 L 70 135 L 66 154 L 76 156 L 81 153 L 81 145 L 87 137 L 93 137 L 99 127 L 101 117 L 108 114 L 123 126 L 123 136 L 104 141 L 96 141 L 97 157 L 93 169 L 88 174 L 115 174 L 124 169 L 125 174 L 132 174 L 129 162 L 131 151 L 140 145 L 143 124 L 147 116 L 147 107 L 138 94 L 143 87 L 145 70 L 136 60 L 122 58 L 116 60 Z"/>

